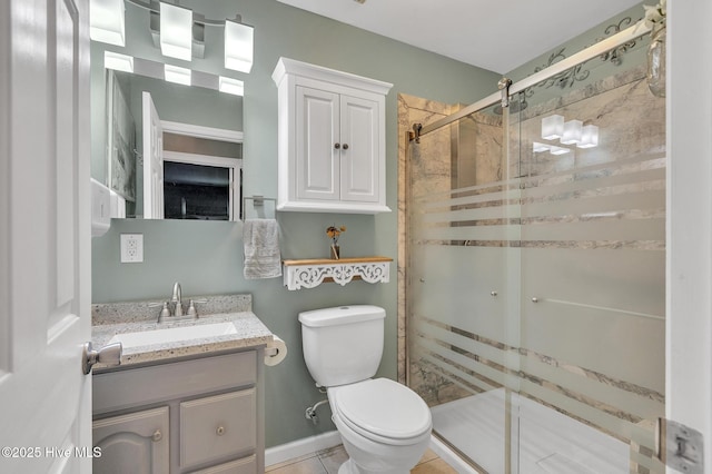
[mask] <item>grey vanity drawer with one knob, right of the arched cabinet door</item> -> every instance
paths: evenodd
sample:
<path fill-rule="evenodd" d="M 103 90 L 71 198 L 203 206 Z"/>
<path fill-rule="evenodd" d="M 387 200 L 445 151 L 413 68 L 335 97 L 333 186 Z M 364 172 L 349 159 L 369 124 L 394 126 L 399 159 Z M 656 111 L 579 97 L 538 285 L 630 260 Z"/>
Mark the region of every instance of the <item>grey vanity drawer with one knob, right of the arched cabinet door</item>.
<path fill-rule="evenodd" d="M 257 447 L 255 389 L 180 404 L 180 466 L 248 454 Z"/>

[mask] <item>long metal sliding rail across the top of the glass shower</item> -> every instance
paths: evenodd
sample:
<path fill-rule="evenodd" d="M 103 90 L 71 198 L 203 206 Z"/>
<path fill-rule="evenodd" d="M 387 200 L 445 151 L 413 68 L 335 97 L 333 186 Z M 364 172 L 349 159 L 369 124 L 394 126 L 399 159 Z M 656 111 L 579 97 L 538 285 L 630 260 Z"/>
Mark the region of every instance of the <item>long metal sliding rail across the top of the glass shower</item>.
<path fill-rule="evenodd" d="M 563 59 L 558 62 L 553 63 L 546 69 L 543 69 L 538 72 L 533 73 L 532 76 L 522 79 L 518 82 L 510 86 L 510 95 L 514 95 L 521 92 L 532 86 L 535 86 L 543 81 L 544 79 L 557 75 L 560 72 L 565 71 L 566 69 L 573 68 L 576 65 L 587 61 L 589 59 L 595 58 L 596 56 L 601 56 L 606 51 L 610 51 L 614 48 L 617 48 L 621 45 L 625 45 L 634 40 L 635 38 L 642 37 L 650 32 L 650 28 L 645 26 L 645 23 L 633 24 L 632 27 L 626 28 L 625 30 L 615 33 L 595 45 L 590 46 L 589 48 L 576 52 L 573 56 L 570 56 L 566 59 Z M 423 126 L 421 129 L 419 136 L 424 136 L 429 134 L 431 131 L 437 130 L 441 127 L 445 127 L 454 121 L 459 120 L 461 118 L 467 117 L 471 113 L 476 112 L 477 110 L 482 110 L 485 107 L 490 107 L 495 103 L 497 100 L 501 100 L 502 96 L 500 92 L 494 92 L 484 99 L 479 99 L 476 102 L 458 110 L 457 112 L 444 117 L 433 124 Z"/>

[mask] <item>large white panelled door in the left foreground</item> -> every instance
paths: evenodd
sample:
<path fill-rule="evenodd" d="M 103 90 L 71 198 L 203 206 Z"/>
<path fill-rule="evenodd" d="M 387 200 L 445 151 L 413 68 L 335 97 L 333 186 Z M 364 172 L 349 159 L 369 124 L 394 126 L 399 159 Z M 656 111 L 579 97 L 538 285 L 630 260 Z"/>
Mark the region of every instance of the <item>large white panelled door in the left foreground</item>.
<path fill-rule="evenodd" d="M 0 472 L 91 472 L 89 11 L 0 2 Z"/>

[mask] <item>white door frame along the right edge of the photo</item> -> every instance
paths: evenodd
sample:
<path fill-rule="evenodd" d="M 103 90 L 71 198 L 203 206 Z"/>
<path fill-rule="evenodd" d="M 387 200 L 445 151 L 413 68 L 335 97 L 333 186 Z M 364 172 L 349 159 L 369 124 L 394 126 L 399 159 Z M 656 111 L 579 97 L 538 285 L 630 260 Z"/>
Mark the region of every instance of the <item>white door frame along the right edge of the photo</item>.
<path fill-rule="evenodd" d="M 668 18 L 665 416 L 703 434 L 695 472 L 712 474 L 712 2 L 668 2 Z"/>

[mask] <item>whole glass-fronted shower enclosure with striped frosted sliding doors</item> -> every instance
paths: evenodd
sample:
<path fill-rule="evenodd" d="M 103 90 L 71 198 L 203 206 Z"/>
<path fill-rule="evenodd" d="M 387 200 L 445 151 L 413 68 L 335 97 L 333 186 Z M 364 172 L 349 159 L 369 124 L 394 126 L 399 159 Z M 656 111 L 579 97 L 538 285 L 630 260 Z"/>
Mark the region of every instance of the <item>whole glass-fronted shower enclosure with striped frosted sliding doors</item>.
<path fill-rule="evenodd" d="M 664 472 L 665 102 L 606 45 L 407 145 L 407 384 L 482 472 Z"/>

